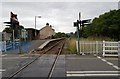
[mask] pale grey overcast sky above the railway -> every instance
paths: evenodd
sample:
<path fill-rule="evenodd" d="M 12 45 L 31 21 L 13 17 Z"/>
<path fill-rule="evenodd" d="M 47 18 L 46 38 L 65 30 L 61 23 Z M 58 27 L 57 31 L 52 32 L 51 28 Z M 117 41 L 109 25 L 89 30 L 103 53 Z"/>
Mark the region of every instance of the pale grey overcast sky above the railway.
<path fill-rule="evenodd" d="M 10 12 L 17 14 L 20 25 L 25 28 L 43 28 L 49 23 L 55 32 L 75 32 L 73 22 L 81 19 L 93 19 L 99 15 L 118 9 L 118 2 L 2 2 L 2 22 L 10 21 Z M 5 28 L 2 24 L 2 31 Z"/>

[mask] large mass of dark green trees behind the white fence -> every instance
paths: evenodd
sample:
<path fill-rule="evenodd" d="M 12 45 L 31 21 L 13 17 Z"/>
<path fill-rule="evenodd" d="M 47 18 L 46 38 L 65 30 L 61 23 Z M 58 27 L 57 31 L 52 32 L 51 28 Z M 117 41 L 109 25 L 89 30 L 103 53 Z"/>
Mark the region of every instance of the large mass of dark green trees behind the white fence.
<path fill-rule="evenodd" d="M 82 29 L 82 36 L 103 36 L 120 40 L 120 9 L 111 10 L 94 18 L 90 25 Z"/>

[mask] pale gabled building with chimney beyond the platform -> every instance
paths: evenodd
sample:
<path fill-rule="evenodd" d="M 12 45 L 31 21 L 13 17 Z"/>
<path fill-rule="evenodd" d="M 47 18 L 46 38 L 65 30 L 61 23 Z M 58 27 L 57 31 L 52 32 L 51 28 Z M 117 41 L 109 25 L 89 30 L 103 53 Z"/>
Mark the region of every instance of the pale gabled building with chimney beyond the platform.
<path fill-rule="evenodd" d="M 45 27 L 39 31 L 39 39 L 50 39 L 55 35 L 55 30 L 47 23 Z"/>

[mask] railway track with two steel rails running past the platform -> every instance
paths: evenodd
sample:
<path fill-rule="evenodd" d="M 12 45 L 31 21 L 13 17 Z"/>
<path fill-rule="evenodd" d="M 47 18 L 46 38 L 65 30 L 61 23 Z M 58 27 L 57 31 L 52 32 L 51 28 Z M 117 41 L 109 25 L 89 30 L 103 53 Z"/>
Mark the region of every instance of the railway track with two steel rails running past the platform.
<path fill-rule="evenodd" d="M 34 60 L 32 60 L 28 64 L 24 65 L 19 70 L 17 70 L 15 73 L 13 73 L 9 77 L 7 77 L 7 79 L 15 79 L 15 77 L 19 73 L 24 71 L 24 69 L 26 69 L 29 65 L 34 64 L 34 62 L 37 61 L 37 59 L 39 59 L 40 57 L 42 57 L 44 54 L 57 54 L 55 59 L 54 59 L 54 62 L 52 64 L 52 67 L 50 69 L 50 72 L 48 74 L 48 77 L 46 77 L 47 79 L 51 79 L 53 71 L 54 71 L 56 63 L 57 63 L 57 59 L 58 59 L 59 55 L 62 52 L 64 43 L 65 43 L 65 39 L 62 39 L 62 40 L 59 40 L 59 41 L 55 41 L 55 42 L 52 42 L 52 43 L 48 44 L 48 46 L 44 50 L 41 50 L 41 51 L 37 50 L 37 51 L 33 52 L 33 54 L 39 54 L 39 55 Z"/>

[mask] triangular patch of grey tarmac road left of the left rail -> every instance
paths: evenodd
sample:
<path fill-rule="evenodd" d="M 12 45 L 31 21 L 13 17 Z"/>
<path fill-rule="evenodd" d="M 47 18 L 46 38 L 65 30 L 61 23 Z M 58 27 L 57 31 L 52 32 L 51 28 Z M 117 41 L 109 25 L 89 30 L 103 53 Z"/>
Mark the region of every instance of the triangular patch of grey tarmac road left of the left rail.
<path fill-rule="evenodd" d="M 20 55 L 12 55 L 12 56 L 6 56 L 2 57 L 2 69 L 5 71 L 2 72 L 3 77 L 8 77 L 14 72 L 16 72 L 18 69 L 20 69 L 23 65 L 27 64 L 31 60 L 33 60 L 34 57 L 30 56 L 20 56 Z"/>

